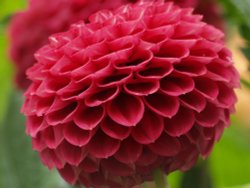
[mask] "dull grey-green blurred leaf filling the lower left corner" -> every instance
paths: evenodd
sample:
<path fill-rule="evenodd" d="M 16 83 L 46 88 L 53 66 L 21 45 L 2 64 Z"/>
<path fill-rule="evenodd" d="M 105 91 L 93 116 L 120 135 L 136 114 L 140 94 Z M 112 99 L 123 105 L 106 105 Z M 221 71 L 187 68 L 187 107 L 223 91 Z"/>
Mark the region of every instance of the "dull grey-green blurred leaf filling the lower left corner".
<path fill-rule="evenodd" d="M 12 92 L 0 127 L 0 187 L 58 188 L 58 178 L 41 164 L 25 135 L 25 120 L 19 112 L 21 103 L 21 95 Z"/>

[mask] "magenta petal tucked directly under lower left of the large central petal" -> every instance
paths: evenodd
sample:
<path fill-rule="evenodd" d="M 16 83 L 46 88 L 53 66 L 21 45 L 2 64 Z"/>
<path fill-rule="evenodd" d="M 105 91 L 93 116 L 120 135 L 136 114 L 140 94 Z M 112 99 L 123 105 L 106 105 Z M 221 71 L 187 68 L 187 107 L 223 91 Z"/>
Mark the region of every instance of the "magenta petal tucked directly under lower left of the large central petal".
<path fill-rule="evenodd" d="M 102 121 L 101 128 L 106 135 L 118 140 L 124 140 L 130 135 L 131 132 L 130 127 L 120 125 L 108 116 Z"/>

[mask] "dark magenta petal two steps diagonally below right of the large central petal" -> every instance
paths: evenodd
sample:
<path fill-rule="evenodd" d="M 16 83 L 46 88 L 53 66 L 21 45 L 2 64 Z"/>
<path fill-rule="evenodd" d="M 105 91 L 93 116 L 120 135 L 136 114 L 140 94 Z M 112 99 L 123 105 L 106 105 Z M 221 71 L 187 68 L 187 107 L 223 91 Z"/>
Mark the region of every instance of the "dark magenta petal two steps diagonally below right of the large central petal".
<path fill-rule="evenodd" d="M 181 144 L 178 139 L 163 133 L 155 143 L 149 144 L 148 147 L 158 155 L 172 157 L 179 153 Z"/>

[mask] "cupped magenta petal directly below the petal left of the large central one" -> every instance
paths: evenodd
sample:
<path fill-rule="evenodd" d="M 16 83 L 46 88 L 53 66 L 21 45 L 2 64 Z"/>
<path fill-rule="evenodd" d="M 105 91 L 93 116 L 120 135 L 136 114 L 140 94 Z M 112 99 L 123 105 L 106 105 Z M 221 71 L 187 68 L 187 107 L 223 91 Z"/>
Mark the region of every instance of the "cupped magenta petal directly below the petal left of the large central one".
<path fill-rule="evenodd" d="M 64 125 L 63 135 L 70 144 L 82 147 L 89 143 L 92 137 L 92 132 L 83 130 L 72 122 Z"/>

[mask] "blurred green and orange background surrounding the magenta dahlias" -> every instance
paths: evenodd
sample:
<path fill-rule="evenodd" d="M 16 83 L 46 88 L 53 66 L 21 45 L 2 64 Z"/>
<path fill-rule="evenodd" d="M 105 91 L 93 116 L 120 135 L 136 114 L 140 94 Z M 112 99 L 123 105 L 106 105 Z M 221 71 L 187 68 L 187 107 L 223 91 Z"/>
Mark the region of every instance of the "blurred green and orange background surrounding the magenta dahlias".
<path fill-rule="evenodd" d="M 200 161 L 188 173 L 175 172 L 168 177 L 171 188 L 250 188 L 250 0 L 217 2 L 225 22 L 226 43 L 241 74 L 237 113 L 207 161 Z M 11 16 L 26 4 L 25 0 L 0 1 L 0 188 L 66 188 L 68 185 L 55 171 L 43 167 L 31 149 L 20 115 L 22 92 L 13 82 L 7 33 Z"/>

